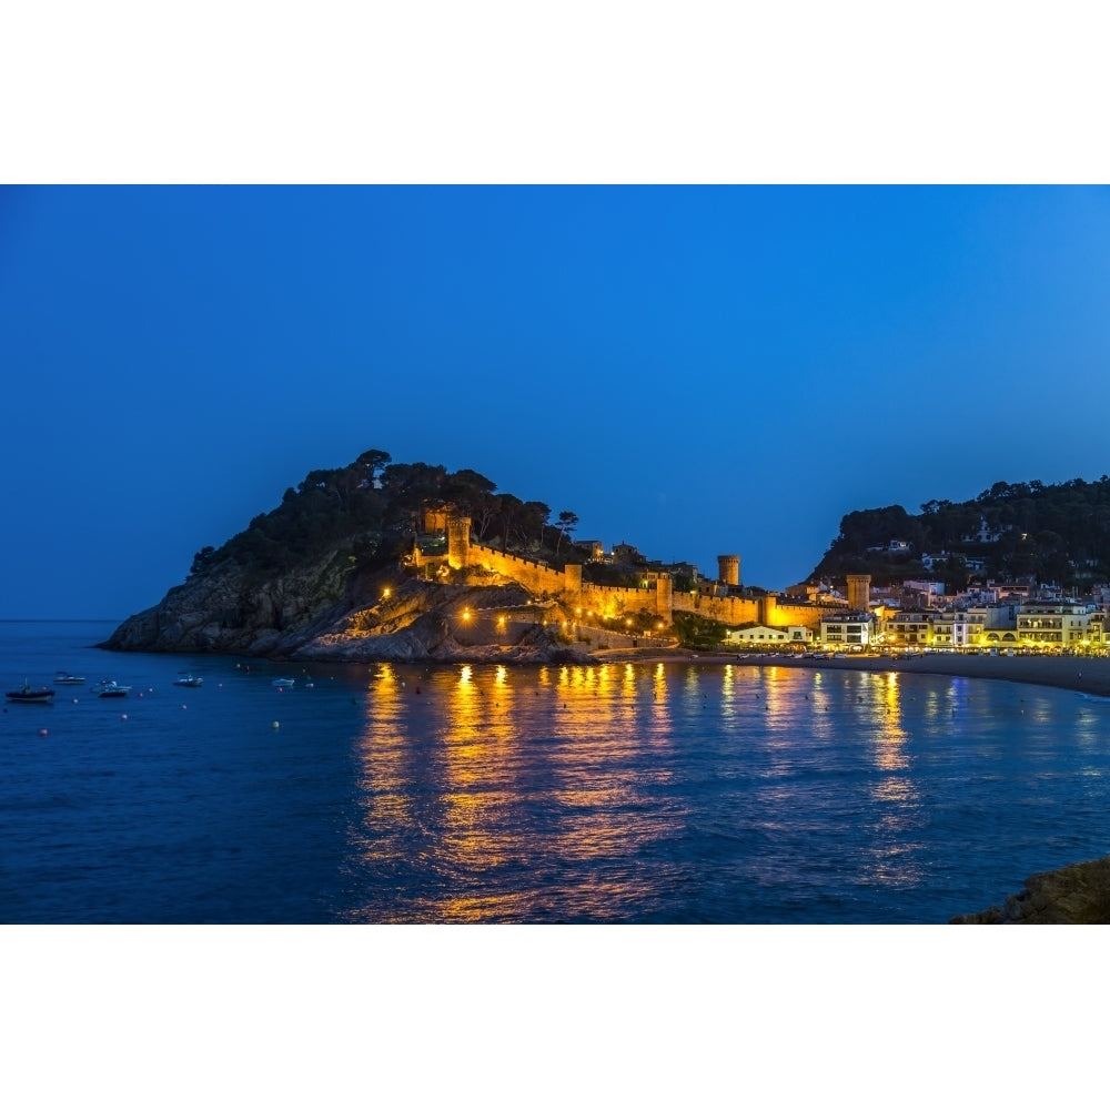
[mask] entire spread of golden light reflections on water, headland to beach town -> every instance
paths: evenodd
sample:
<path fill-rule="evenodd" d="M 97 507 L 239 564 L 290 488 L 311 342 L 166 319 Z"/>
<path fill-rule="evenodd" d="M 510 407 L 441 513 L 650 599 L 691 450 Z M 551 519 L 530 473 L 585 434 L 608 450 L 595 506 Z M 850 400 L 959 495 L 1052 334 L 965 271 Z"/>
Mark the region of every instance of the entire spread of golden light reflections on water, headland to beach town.
<path fill-rule="evenodd" d="M 668 868 L 690 881 L 695 865 L 657 846 L 692 836 L 683 759 L 707 743 L 725 761 L 698 774 L 736 791 L 714 817 L 726 841 L 755 828 L 774 844 L 828 811 L 866 813 L 860 877 L 914 884 L 924 817 L 908 720 L 948 699 L 908 704 L 906 682 L 731 664 L 377 668 L 354 840 L 367 866 L 407 868 L 421 889 L 364 919 L 620 919 L 659 897 Z M 846 783 L 859 791 L 847 805 Z"/>

